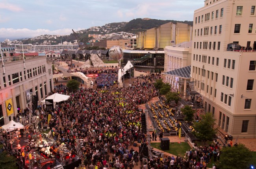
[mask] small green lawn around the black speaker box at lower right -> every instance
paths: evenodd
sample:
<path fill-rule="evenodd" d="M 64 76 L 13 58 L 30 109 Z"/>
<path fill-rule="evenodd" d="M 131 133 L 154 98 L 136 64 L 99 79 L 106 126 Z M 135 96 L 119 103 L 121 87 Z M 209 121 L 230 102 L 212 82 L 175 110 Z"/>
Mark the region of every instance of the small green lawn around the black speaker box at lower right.
<path fill-rule="evenodd" d="M 151 143 L 151 146 L 161 150 L 160 143 Z M 170 143 L 169 150 L 166 150 L 165 152 L 169 152 L 170 154 L 173 154 L 175 156 L 184 156 L 187 150 L 190 150 L 191 147 L 187 142 L 181 142 L 181 143 Z"/>

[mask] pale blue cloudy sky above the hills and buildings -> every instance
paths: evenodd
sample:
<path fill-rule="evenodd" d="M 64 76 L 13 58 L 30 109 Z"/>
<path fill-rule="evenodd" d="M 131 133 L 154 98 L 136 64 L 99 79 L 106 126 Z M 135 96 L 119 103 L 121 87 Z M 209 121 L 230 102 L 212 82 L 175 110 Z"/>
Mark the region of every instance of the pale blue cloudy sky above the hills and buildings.
<path fill-rule="evenodd" d="M 0 0 L 0 41 L 70 35 L 136 18 L 193 20 L 204 0 Z"/>

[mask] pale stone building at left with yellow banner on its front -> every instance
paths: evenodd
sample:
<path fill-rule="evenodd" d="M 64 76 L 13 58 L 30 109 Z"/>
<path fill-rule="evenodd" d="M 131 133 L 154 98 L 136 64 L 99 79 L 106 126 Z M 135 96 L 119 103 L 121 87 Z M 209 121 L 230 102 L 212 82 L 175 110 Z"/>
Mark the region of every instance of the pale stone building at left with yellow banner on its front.
<path fill-rule="evenodd" d="M 45 57 L 5 62 L 0 66 L 0 125 L 9 123 L 22 108 L 31 107 L 31 94 L 41 103 L 53 88 L 52 64 Z"/>

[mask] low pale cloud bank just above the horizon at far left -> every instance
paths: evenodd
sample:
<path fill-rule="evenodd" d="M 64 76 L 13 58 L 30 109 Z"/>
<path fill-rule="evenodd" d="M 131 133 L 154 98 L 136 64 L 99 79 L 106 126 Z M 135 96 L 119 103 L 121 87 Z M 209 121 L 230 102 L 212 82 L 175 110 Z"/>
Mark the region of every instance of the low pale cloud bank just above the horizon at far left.
<path fill-rule="evenodd" d="M 77 28 L 74 31 L 82 30 L 84 28 Z M 13 29 L 13 28 L 0 28 L 0 37 L 7 39 L 19 39 L 19 38 L 32 38 L 40 35 L 70 35 L 72 33 L 71 28 L 49 30 L 49 29 Z"/>

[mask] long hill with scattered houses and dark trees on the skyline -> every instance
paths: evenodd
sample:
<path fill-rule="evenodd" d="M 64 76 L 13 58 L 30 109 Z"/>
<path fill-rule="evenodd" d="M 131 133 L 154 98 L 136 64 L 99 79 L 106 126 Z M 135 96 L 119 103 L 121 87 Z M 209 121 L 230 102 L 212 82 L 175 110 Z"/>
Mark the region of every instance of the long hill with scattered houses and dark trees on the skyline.
<path fill-rule="evenodd" d="M 186 23 L 193 26 L 193 21 L 176 21 L 176 20 L 158 20 L 158 19 L 150 19 L 150 18 L 137 18 L 133 19 L 130 22 L 114 22 L 109 23 L 104 26 L 94 26 L 89 29 L 83 29 L 80 31 L 76 31 L 76 34 L 79 37 L 79 41 L 86 43 L 91 40 L 91 37 L 88 37 L 89 34 L 100 34 L 104 35 L 101 39 L 108 39 L 112 35 L 127 35 L 131 37 L 129 33 L 137 33 L 139 31 L 145 31 L 147 29 L 151 29 L 154 27 L 158 27 L 162 24 L 168 22 L 181 22 Z M 70 30 L 72 32 L 72 30 Z M 30 39 L 22 40 L 23 44 L 42 44 L 43 42 L 47 42 L 47 44 L 59 44 L 61 41 L 74 42 L 75 36 L 73 33 L 70 35 L 41 35 L 39 37 L 34 37 Z"/>

